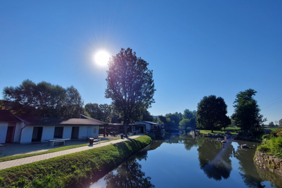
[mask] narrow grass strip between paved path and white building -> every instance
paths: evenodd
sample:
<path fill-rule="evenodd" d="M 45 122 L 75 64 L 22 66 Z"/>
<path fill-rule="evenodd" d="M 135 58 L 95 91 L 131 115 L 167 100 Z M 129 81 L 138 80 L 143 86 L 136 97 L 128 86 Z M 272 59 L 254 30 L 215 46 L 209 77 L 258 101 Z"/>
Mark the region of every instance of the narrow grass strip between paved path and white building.
<path fill-rule="evenodd" d="M 112 140 L 117 140 L 117 139 L 120 139 L 120 137 L 101 141 L 101 143 L 112 141 Z M 28 156 L 35 156 L 35 155 L 39 155 L 39 154 L 46 154 L 46 153 L 51 153 L 51 152 L 56 152 L 56 151 L 62 151 L 62 150 L 66 150 L 66 149 L 73 149 L 73 148 L 76 148 L 76 147 L 82 147 L 82 146 L 86 146 L 86 145 L 88 145 L 88 143 L 83 143 L 83 144 L 78 144 L 78 145 L 62 146 L 62 147 L 52 148 L 52 149 L 48 149 L 47 151 L 37 152 L 37 153 L 20 154 L 20 155 L 13 155 L 13 156 L 3 156 L 3 157 L 0 157 L 0 162 L 19 159 L 19 158 L 25 158 L 25 157 L 28 157 Z"/>

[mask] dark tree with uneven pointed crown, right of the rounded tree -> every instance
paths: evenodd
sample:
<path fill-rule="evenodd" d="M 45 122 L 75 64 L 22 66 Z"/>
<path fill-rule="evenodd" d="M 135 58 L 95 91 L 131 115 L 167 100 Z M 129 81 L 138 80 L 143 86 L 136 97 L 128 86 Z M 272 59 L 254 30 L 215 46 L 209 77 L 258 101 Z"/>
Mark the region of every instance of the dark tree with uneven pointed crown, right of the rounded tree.
<path fill-rule="evenodd" d="M 267 120 L 260 114 L 261 109 L 257 100 L 254 99 L 256 93 L 257 91 L 251 88 L 241 91 L 236 95 L 233 102 L 235 109 L 231 117 L 244 132 L 261 131 L 263 128 L 262 123 Z"/>

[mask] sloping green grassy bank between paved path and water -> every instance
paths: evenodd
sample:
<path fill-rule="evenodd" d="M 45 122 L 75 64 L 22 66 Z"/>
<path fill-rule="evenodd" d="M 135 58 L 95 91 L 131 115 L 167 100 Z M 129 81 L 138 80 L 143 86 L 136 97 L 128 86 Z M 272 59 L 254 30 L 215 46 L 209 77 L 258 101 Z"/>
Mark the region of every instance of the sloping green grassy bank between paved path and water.
<path fill-rule="evenodd" d="M 79 187 L 97 180 L 148 145 L 135 139 L 0 170 L 0 187 Z"/>

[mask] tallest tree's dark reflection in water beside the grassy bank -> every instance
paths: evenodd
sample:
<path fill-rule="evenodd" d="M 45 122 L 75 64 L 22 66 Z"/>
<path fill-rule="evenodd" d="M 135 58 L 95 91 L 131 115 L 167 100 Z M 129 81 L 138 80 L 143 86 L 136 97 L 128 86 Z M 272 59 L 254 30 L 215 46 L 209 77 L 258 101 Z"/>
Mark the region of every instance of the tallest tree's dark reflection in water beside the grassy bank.
<path fill-rule="evenodd" d="M 147 159 L 147 151 L 143 150 L 138 152 L 136 158 L 140 161 Z M 129 159 L 122 163 L 116 171 L 108 173 L 104 180 L 106 181 L 106 187 L 155 187 L 150 182 L 151 177 L 145 177 L 145 172 L 141 170 L 141 164 L 139 164 L 136 158 Z"/>

